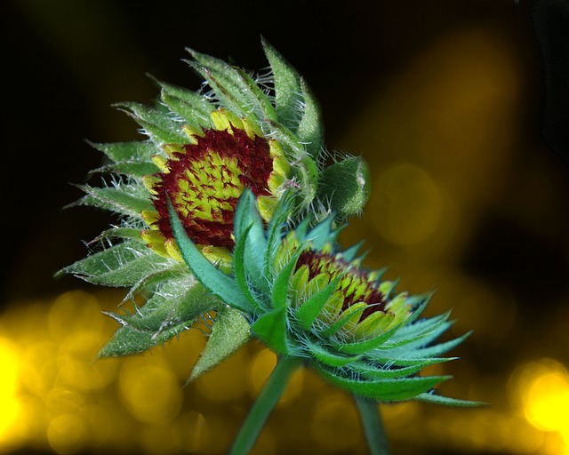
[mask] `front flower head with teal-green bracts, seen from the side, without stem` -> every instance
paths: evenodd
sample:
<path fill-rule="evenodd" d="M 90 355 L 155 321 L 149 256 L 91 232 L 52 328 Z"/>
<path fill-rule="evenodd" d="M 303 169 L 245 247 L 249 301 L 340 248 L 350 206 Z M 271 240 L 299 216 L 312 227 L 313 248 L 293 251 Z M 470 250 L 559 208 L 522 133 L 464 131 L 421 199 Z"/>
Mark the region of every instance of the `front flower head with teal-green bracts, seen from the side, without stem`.
<path fill-rule="evenodd" d="M 432 393 L 448 376 L 418 374 L 452 360 L 441 355 L 469 334 L 433 344 L 452 324 L 448 313 L 420 320 L 429 295 L 394 292 L 381 271 L 360 267 L 357 246 L 337 252 L 332 217 L 314 228 L 306 219 L 286 232 L 292 204 L 284 197 L 265 229 L 255 197 L 244 192 L 236 208 L 233 275 L 204 258 L 171 206 L 172 229 L 196 278 L 240 311 L 252 334 L 278 355 L 301 358 L 333 385 L 379 402 L 475 404 Z"/>

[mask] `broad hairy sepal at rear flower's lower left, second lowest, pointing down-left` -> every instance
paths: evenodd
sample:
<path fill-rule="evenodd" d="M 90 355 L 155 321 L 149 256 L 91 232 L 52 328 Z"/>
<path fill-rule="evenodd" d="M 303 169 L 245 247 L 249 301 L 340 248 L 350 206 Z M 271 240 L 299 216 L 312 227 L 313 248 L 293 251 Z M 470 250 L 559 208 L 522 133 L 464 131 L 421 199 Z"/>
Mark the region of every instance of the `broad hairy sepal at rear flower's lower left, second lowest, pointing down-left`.
<path fill-rule="evenodd" d="M 106 313 L 123 326 L 97 356 L 138 354 L 188 330 L 205 312 L 219 306 L 219 299 L 188 275 L 164 282 L 134 314 Z"/>

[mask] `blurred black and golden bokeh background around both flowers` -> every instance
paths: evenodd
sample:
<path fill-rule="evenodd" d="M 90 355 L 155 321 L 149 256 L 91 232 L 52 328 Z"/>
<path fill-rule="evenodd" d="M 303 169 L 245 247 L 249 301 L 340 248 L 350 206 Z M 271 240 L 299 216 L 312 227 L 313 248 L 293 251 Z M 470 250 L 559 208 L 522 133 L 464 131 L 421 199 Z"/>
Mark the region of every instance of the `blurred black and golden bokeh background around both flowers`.
<path fill-rule="evenodd" d="M 204 336 L 92 362 L 123 290 L 52 278 L 112 222 L 63 210 L 101 156 L 141 140 L 111 105 L 146 74 L 197 89 L 184 48 L 244 68 L 260 36 L 306 77 L 328 148 L 365 156 L 373 195 L 341 238 L 398 289 L 437 288 L 474 329 L 437 372 L 492 403 L 381 407 L 394 454 L 569 453 L 569 6 L 565 0 L 4 0 L 0 452 L 225 453 L 275 356 L 252 343 L 188 387 Z M 565 154 L 565 156 L 564 156 Z M 297 374 L 257 454 L 367 453 L 348 395 Z"/>

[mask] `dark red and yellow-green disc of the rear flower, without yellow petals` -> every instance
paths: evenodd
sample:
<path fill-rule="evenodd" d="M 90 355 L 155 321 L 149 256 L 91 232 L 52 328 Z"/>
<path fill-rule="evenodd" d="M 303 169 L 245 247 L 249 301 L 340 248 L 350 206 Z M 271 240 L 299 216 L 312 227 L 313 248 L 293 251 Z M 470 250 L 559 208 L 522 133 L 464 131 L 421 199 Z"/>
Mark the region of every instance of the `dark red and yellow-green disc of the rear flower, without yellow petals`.
<path fill-rule="evenodd" d="M 157 227 L 172 239 L 168 198 L 189 238 L 197 244 L 233 248 L 233 218 L 244 188 L 255 196 L 269 195 L 268 179 L 273 170 L 268 141 L 234 128 L 205 130 L 196 144 L 183 146 L 166 163 L 154 186 L 153 204 L 159 214 Z"/>

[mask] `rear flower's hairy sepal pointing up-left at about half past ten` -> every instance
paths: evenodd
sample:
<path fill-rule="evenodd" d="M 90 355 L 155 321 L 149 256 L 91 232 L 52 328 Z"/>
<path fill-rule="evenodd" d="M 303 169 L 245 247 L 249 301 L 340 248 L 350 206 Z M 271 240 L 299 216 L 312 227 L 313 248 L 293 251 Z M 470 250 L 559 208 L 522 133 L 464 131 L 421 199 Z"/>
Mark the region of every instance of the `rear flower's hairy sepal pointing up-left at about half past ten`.
<path fill-rule="evenodd" d="M 148 136 L 158 143 L 184 144 L 188 141 L 188 136 L 181 128 L 182 124 L 172 120 L 165 112 L 134 102 L 117 103 L 115 106 L 124 108 L 124 112 L 132 116 Z"/>

